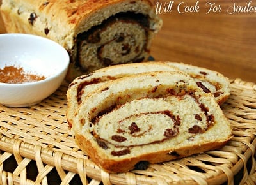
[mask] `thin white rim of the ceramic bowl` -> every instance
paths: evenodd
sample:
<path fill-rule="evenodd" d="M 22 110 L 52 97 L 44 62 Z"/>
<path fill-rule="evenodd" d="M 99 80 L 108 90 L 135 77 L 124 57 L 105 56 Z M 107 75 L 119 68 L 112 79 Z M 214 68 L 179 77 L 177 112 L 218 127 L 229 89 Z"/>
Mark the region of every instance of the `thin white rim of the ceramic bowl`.
<path fill-rule="evenodd" d="M 44 41 L 47 41 L 47 42 L 50 42 L 51 44 L 54 44 L 56 45 L 56 47 L 60 48 L 61 52 L 63 53 L 62 56 L 63 57 L 63 65 L 61 65 L 61 70 L 58 70 L 57 73 L 54 73 L 53 75 L 51 75 L 50 77 L 45 77 L 43 80 L 37 80 L 37 81 L 33 81 L 33 82 L 24 82 L 24 83 L 4 83 L 4 82 L 0 82 L 0 85 L 1 86 L 30 86 L 30 85 L 36 85 L 36 84 L 42 84 L 44 82 L 48 82 L 48 81 L 51 81 L 52 79 L 58 77 L 61 73 L 63 73 L 64 71 L 68 70 L 68 66 L 70 64 L 70 56 L 67 52 L 67 50 L 61 46 L 59 43 L 57 43 L 56 41 L 54 40 L 51 40 L 49 38 L 46 38 L 44 36 L 38 36 L 38 35 L 35 35 L 35 34 L 28 34 L 28 33 L 3 33 L 3 34 L 0 34 L 0 40 L 1 38 L 4 38 L 4 37 L 23 37 L 23 38 L 36 38 L 36 39 L 39 39 L 39 40 L 44 40 Z"/>

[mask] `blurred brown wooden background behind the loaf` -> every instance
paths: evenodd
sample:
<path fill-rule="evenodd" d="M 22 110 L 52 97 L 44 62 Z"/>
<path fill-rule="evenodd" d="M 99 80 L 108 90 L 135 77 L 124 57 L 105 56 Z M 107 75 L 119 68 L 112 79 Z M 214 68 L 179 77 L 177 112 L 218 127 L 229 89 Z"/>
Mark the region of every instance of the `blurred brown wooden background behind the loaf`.
<path fill-rule="evenodd" d="M 161 4 L 162 10 L 164 4 L 172 3 L 152 2 L 155 8 Z M 220 5 L 221 13 L 207 14 L 207 2 L 216 3 L 217 7 Z M 253 10 L 252 13 L 230 15 L 227 9 L 234 3 L 248 7 L 250 1 L 200 1 L 199 12 L 191 13 L 179 13 L 177 6 L 180 4 L 180 11 L 185 5 L 193 10 L 196 0 L 173 1 L 172 12 L 166 8 L 165 12 L 159 13 L 163 28 L 152 43 L 152 56 L 157 61 L 190 63 L 219 71 L 229 78 L 256 82 L 256 13 Z M 251 6 L 256 6 L 256 0 L 251 1 Z M 4 33 L 1 18 L 0 33 Z"/>

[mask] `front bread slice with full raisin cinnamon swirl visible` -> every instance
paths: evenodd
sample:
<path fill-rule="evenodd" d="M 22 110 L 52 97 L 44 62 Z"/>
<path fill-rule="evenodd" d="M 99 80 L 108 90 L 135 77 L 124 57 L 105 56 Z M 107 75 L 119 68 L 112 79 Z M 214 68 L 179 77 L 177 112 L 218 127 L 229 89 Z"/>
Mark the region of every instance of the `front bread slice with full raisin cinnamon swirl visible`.
<path fill-rule="evenodd" d="M 216 149 L 232 137 L 212 94 L 179 71 L 104 83 L 83 98 L 72 131 L 77 145 L 111 173 Z"/>

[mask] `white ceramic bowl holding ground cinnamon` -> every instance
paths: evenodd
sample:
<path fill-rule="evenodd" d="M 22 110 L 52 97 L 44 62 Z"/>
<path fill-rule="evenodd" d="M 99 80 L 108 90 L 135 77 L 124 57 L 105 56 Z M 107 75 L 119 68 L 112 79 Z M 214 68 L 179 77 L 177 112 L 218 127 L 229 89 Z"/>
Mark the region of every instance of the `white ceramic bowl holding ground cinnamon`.
<path fill-rule="evenodd" d="M 0 69 L 19 66 L 24 71 L 45 77 L 22 84 L 0 82 L 0 104 L 27 107 L 44 100 L 60 87 L 69 60 L 67 50 L 47 38 L 32 34 L 0 34 Z"/>

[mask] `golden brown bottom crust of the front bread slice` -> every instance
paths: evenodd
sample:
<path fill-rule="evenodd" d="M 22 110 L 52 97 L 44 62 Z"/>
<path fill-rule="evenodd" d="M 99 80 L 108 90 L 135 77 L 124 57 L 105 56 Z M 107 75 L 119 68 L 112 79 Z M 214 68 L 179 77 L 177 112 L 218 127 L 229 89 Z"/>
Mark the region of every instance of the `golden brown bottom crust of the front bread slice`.
<path fill-rule="evenodd" d="M 174 159 L 184 158 L 186 156 L 191 156 L 192 154 L 200 154 L 204 151 L 214 150 L 225 145 L 228 140 L 222 142 L 209 142 L 202 145 L 191 145 L 189 147 L 181 147 L 177 149 L 175 152 L 170 151 L 159 151 L 154 153 L 148 153 L 141 156 L 136 156 L 134 158 L 125 158 L 119 161 L 113 159 L 104 159 L 102 160 L 102 156 L 100 153 L 95 150 L 90 140 L 84 138 L 83 135 L 76 134 L 76 144 L 92 158 L 92 161 L 97 161 L 98 164 L 103 170 L 109 173 L 119 173 L 119 172 L 127 172 L 129 170 L 133 170 L 135 165 L 140 161 L 148 161 L 151 164 L 161 163 L 164 161 L 172 161 Z"/>

